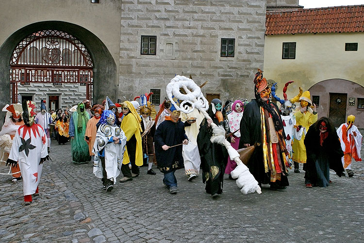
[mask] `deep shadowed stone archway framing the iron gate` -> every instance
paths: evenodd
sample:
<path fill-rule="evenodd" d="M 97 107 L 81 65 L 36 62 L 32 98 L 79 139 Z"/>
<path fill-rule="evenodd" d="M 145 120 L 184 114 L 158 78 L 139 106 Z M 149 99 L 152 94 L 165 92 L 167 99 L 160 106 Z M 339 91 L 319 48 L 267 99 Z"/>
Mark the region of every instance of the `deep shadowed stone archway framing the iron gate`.
<path fill-rule="evenodd" d="M 64 31 L 81 40 L 94 60 L 94 102 L 100 103 L 106 95 L 116 100 L 118 85 L 116 63 L 103 42 L 82 26 L 64 21 L 42 21 L 17 30 L 0 47 L 0 108 L 10 102 L 9 61 L 17 44 L 28 35 L 44 29 Z M 3 122 L 3 113 L 0 113 L 0 125 Z"/>

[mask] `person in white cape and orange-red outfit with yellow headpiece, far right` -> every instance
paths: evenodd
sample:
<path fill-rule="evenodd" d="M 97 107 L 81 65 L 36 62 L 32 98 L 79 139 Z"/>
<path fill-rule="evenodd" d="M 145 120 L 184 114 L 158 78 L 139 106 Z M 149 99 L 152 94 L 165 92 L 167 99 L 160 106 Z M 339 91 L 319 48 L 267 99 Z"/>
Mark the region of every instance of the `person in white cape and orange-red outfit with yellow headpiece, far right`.
<path fill-rule="evenodd" d="M 354 158 L 355 161 L 362 161 L 360 151 L 362 149 L 363 136 L 353 124 L 354 121 L 355 116 L 350 115 L 347 117 L 347 123 L 341 124 L 336 130 L 340 139 L 341 149 L 344 151 L 344 156 L 341 158 L 341 161 L 349 177 L 354 176 L 351 170 L 351 158 Z"/>

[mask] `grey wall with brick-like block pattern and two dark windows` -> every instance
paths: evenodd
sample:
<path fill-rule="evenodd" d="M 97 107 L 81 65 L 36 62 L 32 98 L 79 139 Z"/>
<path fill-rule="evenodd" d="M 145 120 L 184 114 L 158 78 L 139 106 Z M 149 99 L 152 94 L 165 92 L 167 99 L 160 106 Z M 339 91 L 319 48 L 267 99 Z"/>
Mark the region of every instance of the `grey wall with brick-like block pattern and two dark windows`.
<path fill-rule="evenodd" d="M 175 74 L 203 93 L 254 97 L 253 77 L 263 69 L 265 0 L 122 1 L 118 97 L 161 89 Z M 157 37 L 156 55 L 141 54 L 141 36 Z M 220 57 L 221 38 L 234 38 L 234 57 Z"/>

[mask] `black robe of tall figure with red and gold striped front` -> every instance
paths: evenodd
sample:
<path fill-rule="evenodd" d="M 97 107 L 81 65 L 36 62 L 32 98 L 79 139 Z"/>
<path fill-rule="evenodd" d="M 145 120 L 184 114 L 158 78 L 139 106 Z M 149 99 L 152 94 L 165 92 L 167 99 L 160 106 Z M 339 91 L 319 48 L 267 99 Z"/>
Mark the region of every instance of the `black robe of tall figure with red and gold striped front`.
<path fill-rule="evenodd" d="M 278 106 L 273 104 L 278 111 Z M 261 128 L 261 118 L 260 118 L 260 106 L 254 99 L 249 102 L 243 113 L 243 117 L 240 121 L 240 142 L 239 149 L 244 148 L 244 143 L 249 143 L 253 145 L 255 142 L 262 144 L 262 128 Z M 282 155 L 281 161 L 283 161 Z M 263 158 L 263 146 L 257 146 L 254 150 L 253 155 L 248 161 L 248 168 L 250 173 L 254 178 L 261 184 L 270 184 L 276 186 L 288 186 L 288 178 L 286 175 L 281 174 L 281 180 L 276 182 L 270 182 L 270 171 L 265 173 L 264 168 L 264 158 Z M 282 162 L 283 170 L 285 170 L 285 165 Z"/>

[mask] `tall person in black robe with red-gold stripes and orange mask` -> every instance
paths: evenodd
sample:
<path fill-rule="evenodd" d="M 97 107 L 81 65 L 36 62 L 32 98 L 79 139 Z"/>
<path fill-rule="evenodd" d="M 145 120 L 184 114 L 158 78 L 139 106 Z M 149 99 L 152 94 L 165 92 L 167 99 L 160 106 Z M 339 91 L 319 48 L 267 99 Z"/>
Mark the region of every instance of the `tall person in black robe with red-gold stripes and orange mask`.
<path fill-rule="evenodd" d="M 240 122 L 239 148 L 259 143 L 248 161 L 248 168 L 259 185 L 270 184 L 272 190 L 284 190 L 287 178 L 288 154 L 281 115 L 276 104 L 270 101 L 270 88 L 258 69 L 254 78 L 255 99 L 249 102 Z"/>

